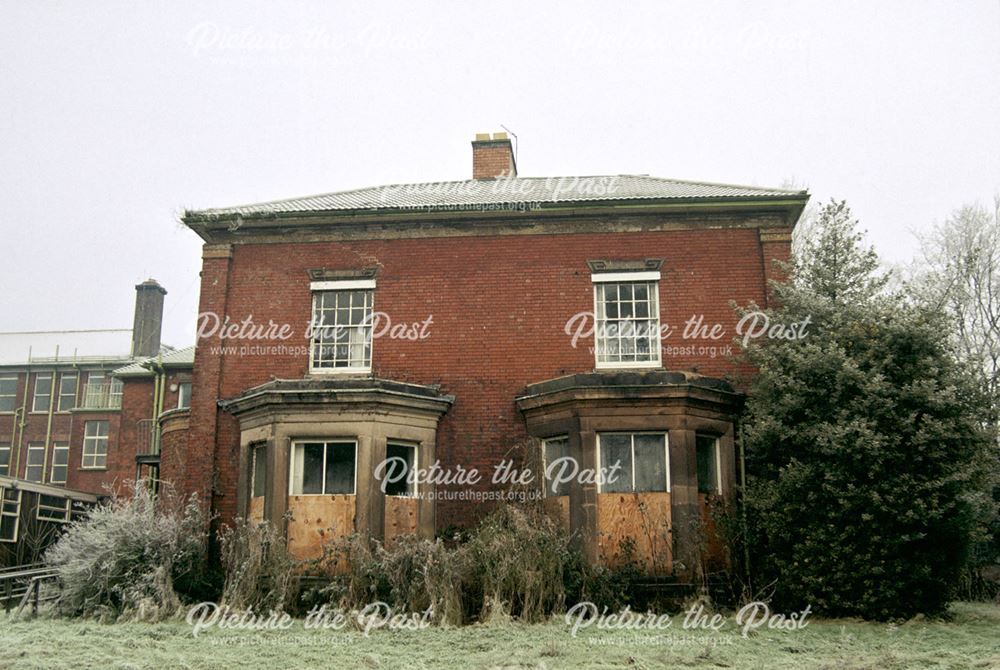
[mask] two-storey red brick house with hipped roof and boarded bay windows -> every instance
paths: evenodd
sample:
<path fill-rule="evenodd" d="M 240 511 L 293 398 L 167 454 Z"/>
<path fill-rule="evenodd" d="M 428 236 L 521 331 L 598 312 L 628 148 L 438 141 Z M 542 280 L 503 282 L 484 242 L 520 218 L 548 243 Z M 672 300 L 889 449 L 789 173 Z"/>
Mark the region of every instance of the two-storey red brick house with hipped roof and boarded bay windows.
<path fill-rule="evenodd" d="M 472 149 L 470 180 L 185 213 L 200 333 L 163 479 L 306 558 L 331 532 L 474 523 L 511 460 L 553 475 L 519 490 L 590 560 L 629 539 L 652 572 L 692 565 L 735 482 L 730 301 L 767 304 L 808 194 L 526 178 L 504 134 Z"/>

